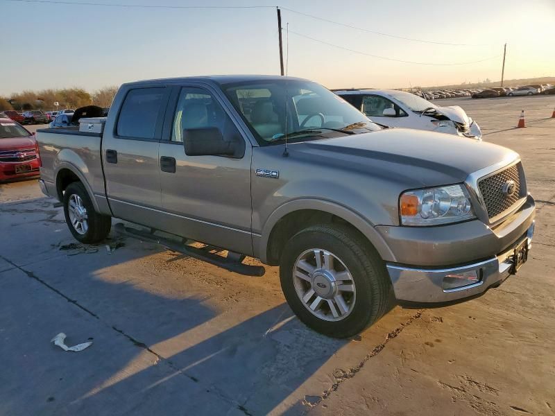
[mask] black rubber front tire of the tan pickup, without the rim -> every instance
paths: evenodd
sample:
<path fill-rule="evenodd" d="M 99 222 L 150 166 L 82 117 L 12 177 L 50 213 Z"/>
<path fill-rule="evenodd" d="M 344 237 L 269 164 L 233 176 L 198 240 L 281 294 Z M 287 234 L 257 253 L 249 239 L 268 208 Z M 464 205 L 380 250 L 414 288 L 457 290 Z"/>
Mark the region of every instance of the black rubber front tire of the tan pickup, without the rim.
<path fill-rule="evenodd" d="M 295 263 L 311 248 L 332 252 L 350 271 L 356 286 L 352 311 L 342 320 L 328 321 L 311 313 L 293 283 Z M 308 327 L 333 338 L 354 336 L 376 322 L 391 300 L 391 281 L 385 263 L 363 236 L 341 225 L 314 225 L 286 243 L 280 259 L 280 281 L 287 303 Z"/>

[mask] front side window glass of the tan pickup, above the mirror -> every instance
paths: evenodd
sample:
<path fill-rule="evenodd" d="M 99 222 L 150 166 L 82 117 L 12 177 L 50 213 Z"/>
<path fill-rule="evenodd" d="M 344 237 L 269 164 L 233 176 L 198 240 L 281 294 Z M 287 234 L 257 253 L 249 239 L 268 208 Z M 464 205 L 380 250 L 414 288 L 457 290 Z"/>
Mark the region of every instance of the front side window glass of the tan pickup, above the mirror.
<path fill-rule="evenodd" d="M 171 141 L 183 141 L 183 130 L 192 128 L 219 128 L 224 130 L 228 117 L 210 92 L 202 88 L 181 89 L 176 114 L 173 117 Z"/>

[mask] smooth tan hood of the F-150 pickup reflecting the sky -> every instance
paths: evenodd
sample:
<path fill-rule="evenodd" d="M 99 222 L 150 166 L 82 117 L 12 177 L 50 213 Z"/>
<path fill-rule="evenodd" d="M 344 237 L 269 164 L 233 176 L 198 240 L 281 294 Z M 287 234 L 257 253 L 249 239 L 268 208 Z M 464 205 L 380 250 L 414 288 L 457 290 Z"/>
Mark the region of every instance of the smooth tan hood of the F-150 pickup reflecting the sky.
<path fill-rule="evenodd" d="M 320 163 L 364 170 L 407 189 L 463 182 L 470 173 L 518 157 L 513 150 L 484 141 L 403 128 L 304 145 L 302 153 L 317 156 Z"/>

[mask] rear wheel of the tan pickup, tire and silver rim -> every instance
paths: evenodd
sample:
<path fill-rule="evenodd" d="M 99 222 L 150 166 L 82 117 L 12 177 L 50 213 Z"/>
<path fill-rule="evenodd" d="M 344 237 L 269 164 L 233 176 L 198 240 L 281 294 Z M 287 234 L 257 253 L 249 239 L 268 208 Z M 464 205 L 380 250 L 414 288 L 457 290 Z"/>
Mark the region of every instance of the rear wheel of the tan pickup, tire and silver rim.
<path fill-rule="evenodd" d="M 64 214 L 69 231 L 81 243 L 99 243 L 110 233 L 112 217 L 94 211 L 81 182 L 72 182 L 65 190 Z"/>

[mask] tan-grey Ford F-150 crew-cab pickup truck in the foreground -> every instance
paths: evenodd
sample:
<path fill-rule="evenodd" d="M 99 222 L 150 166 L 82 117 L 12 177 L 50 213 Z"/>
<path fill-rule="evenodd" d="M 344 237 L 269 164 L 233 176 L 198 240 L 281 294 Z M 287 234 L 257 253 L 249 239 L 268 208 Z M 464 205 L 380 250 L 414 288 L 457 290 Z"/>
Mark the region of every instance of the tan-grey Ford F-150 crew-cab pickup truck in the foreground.
<path fill-rule="evenodd" d="M 40 185 L 78 241 L 121 218 L 226 249 L 236 266 L 279 265 L 291 309 L 329 336 L 361 331 L 393 297 L 479 295 L 531 248 L 517 153 L 383 128 L 309 80 L 128 83 L 107 119 L 83 122 L 37 133 Z"/>

